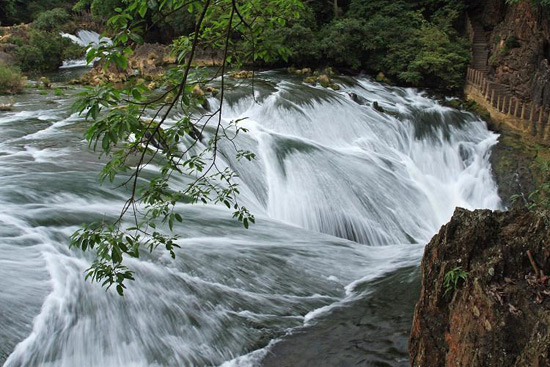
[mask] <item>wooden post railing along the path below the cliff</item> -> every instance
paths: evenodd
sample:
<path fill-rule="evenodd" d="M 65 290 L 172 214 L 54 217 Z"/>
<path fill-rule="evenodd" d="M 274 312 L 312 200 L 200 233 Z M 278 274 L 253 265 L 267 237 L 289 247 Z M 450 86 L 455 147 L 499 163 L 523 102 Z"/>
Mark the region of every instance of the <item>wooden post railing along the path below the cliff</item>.
<path fill-rule="evenodd" d="M 487 80 L 481 70 L 469 68 L 467 86 L 475 89 L 498 112 L 513 117 L 515 127 L 550 143 L 550 109 L 523 102 L 510 93 L 509 87 Z"/>

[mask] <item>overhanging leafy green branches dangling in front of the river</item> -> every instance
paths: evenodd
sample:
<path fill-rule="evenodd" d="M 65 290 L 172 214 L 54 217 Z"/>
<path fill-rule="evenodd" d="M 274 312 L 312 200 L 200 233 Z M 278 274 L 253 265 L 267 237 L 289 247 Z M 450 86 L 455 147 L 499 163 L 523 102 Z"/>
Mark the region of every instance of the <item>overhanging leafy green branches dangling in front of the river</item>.
<path fill-rule="evenodd" d="M 166 92 L 160 98 L 149 95 L 141 84 L 121 89 L 103 85 L 88 88 L 75 103 L 75 111 L 91 121 L 85 135 L 90 146 L 108 158 L 102 181 L 114 182 L 122 174 L 122 187 L 129 190 L 117 220 L 86 225 L 72 237 L 71 246 L 95 254 L 87 278 L 107 287 L 116 285 L 117 292 L 123 294 L 124 282 L 134 278 L 125 258 L 160 248 L 175 257 L 177 236 L 166 235 L 162 229 L 173 230 L 183 221 L 177 212 L 178 203 L 223 204 L 244 227 L 254 223 L 254 216 L 239 202 L 236 174 L 217 162 L 224 142 L 235 149 L 237 160 L 254 157 L 234 144 L 236 136 L 246 132 L 241 121 L 222 124 L 225 72 L 229 65 L 285 59 L 290 51 L 282 44 L 284 37 L 267 35 L 276 34 L 274 30 L 284 28 L 302 9 L 298 0 L 132 0 L 125 8 L 115 9 L 116 14 L 107 22 L 113 45 L 92 48 L 87 54 L 88 60 L 101 58 L 105 67 L 126 69 L 132 46 L 142 42 L 151 19 L 188 11 L 195 19 L 195 30 L 174 41 L 177 66 L 166 73 Z M 223 54 L 215 75 L 191 70 L 199 47 L 218 49 Z M 221 83 L 220 105 L 201 115 L 204 97 L 196 86 L 215 77 Z M 165 98 L 169 95 L 171 98 Z M 176 110 L 181 118 L 166 126 L 167 117 Z M 146 120 L 146 111 L 154 118 Z M 128 161 L 134 156 L 138 157 L 137 164 Z M 152 160 L 161 168 L 152 179 L 144 180 L 142 171 Z M 189 179 L 185 188 L 171 184 L 175 175 Z"/>

